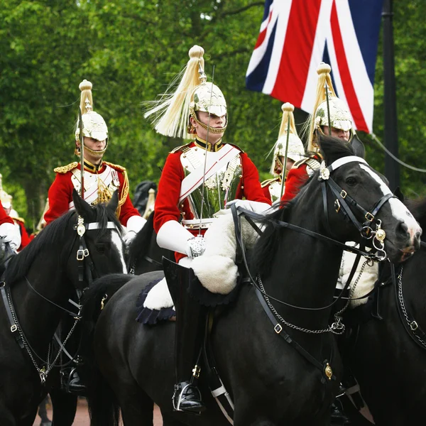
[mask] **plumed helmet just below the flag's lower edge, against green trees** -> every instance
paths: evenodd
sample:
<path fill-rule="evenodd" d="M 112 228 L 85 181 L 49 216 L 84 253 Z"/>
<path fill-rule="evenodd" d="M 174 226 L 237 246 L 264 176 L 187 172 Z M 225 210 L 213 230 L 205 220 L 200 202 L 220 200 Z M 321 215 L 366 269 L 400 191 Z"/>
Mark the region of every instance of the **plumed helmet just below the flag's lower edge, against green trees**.
<path fill-rule="evenodd" d="M 271 170 L 269 170 L 269 173 L 274 176 L 280 174 L 277 173 L 278 166 L 281 170 L 284 170 L 284 165 L 280 160 L 280 157 L 285 157 L 285 147 L 287 146 L 287 129 L 289 121 L 290 132 L 288 133 L 287 158 L 290 158 L 290 160 L 296 162 L 305 157 L 305 148 L 303 148 L 303 143 L 300 140 L 299 136 L 297 136 L 295 116 L 293 115 L 295 107 L 293 107 L 292 104 L 289 104 L 287 102 L 283 104 L 281 109 L 283 110 L 283 119 L 281 120 L 278 140 L 273 146 L 273 160 L 271 164 Z"/>

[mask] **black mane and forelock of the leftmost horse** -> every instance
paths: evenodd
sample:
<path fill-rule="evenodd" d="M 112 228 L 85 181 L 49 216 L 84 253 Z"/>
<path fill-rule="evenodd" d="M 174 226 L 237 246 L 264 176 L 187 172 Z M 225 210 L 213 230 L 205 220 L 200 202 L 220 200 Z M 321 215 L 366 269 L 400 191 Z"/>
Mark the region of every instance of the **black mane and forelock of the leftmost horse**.
<path fill-rule="evenodd" d="M 92 217 L 84 219 L 84 222 L 99 222 L 100 228 L 97 239 L 101 238 L 107 232 L 107 222 L 114 222 L 121 235 L 122 231 L 119 219 L 117 219 L 111 209 L 108 209 L 104 204 L 98 204 L 92 206 L 90 211 Z M 62 214 L 58 219 L 45 226 L 40 234 L 31 241 L 31 244 L 28 244 L 25 249 L 16 256 L 13 256 L 6 268 L 6 283 L 11 285 L 23 278 L 40 251 L 45 250 L 46 247 L 51 249 L 54 241 L 59 241 L 62 246 L 67 243 L 72 244 L 73 241 L 67 237 L 67 231 L 71 226 L 77 224 L 76 216 L 77 212 L 75 210 Z"/>

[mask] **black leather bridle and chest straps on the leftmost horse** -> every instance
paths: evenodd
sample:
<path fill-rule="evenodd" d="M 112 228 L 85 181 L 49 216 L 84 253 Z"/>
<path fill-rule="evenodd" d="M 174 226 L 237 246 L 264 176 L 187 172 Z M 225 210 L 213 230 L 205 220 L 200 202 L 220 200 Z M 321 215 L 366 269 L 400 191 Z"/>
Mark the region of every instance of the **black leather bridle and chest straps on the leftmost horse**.
<path fill-rule="evenodd" d="M 74 329 L 77 326 L 77 323 L 82 318 L 81 317 L 82 305 L 80 305 L 80 298 L 82 297 L 82 290 L 80 290 L 80 288 L 83 288 L 83 285 L 84 285 L 84 271 L 86 271 L 86 275 L 88 277 L 87 287 L 90 284 L 92 284 L 93 278 L 98 277 L 98 273 L 96 271 L 96 268 L 94 266 L 92 258 L 90 257 L 89 249 L 87 249 L 87 244 L 86 244 L 86 240 L 84 239 L 84 234 L 86 233 L 86 231 L 89 231 L 89 230 L 92 230 L 92 229 L 100 229 L 100 228 L 101 228 L 101 224 L 99 222 L 89 222 L 88 224 L 84 223 L 84 219 L 80 215 L 77 219 L 77 225 L 74 226 L 74 229 L 77 231 L 77 234 L 75 235 L 74 242 L 71 245 L 71 250 L 72 250 L 72 247 L 74 247 L 75 240 L 77 239 L 77 236 L 79 236 L 79 239 L 80 239 L 79 249 L 77 249 L 77 261 L 79 261 L 79 264 L 78 264 L 78 271 L 79 271 L 78 283 L 79 283 L 79 285 L 74 286 L 75 290 L 77 292 L 77 297 L 79 299 L 79 302 L 76 303 L 73 300 L 69 300 L 69 302 L 72 303 L 72 305 L 75 305 L 75 307 L 78 308 L 77 314 L 75 312 L 67 310 L 65 307 L 62 307 L 62 306 L 56 304 L 52 300 L 49 300 L 47 297 L 40 294 L 37 290 L 35 290 L 33 285 L 31 285 L 28 278 L 26 278 L 26 276 L 24 276 L 26 283 L 31 288 L 31 290 L 33 290 L 34 293 L 36 293 L 37 295 L 42 297 L 44 300 L 49 302 L 51 305 L 54 305 L 55 307 L 58 307 L 60 310 L 71 315 L 75 320 L 75 322 L 72 325 L 70 332 L 67 334 L 67 337 L 65 338 L 64 342 L 62 342 L 62 343 L 59 342 L 60 343 L 60 349 L 58 350 L 58 354 L 56 354 L 55 359 L 53 360 L 52 363 L 50 363 L 49 359 L 48 359 L 48 361 L 45 361 L 45 359 L 41 358 L 34 351 L 34 349 L 31 347 L 31 344 L 28 342 L 28 339 L 26 338 L 26 336 L 23 333 L 23 330 L 21 328 L 21 325 L 19 324 L 15 308 L 13 307 L 13 301 L 12 301 L 12 298 L 11 298 L 10 289 L 6 286 L 6 283 L 4 281 L 0 282 L 0 293 L 1 293 L 1 296 L 2 296 L 2 299 L 3 299 L 3 302 L 4 302 L 4 306 L 6 308 L 6 313 L 7 313 L 8 319 L 9 319 L 9 324 L 11 326 L 10 327 L 11 333 L 15 337 L 16 342 L 18 342 L 18 345 L 21 347 L 21 349 L 26 349 L 28 356 L 30 356 L 31 361 L 33 362 L 33 365 L 35 366 L 36 370 L 38 371 L 38 375 L 40 376 L 40 381 L 41 381 L 42 384 L 45 383 L 46 378 L 48 376 L 48 373 L 50 373 L 52 368 L 54 366 L 60 366 L 60 365 L 57 365 L 56 362 L 58 361 L 60 354 L 62 354 L 62 352 L 65 352 L 65 344 L 67 343 L 68 339 L 70 339 L 72 332 L 74 332 Z M 107 222 L 107 225 L 104 226 L 104 229 L 117 229 L 117 227 L 116 227 L 116 224 L 114 224 L 114 222 Z M 69 257 L 70 257 L 70 255 L 67 256 L 67 258 L 69 258 Z M 85 259 L 87 259 L 86 263 L 84 263 Z M 58 338 L 57 338 L 57 340 L 58 340 Z M 50 349 L 50 345 L 49 345 L 49 349 Z M 41 361 L 43 364 L 45 364 L 45 366 L 40 368 L 38 366 L 38 362 L 35 361 L 35 357 L 37 357 L 39 361 Z M 73 359 L 71 359 L 71 361 L 72 360 Z M 68 361 L 67 364 L 70 364 L 71 361 Z"/>

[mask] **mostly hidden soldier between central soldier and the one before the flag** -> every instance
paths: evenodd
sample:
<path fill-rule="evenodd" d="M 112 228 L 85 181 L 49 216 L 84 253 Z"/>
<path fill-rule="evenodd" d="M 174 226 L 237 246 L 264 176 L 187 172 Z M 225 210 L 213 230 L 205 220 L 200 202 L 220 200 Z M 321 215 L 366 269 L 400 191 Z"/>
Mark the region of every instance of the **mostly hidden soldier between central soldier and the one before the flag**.
<path fill-rule="evenodd" d="M 293 167 L 294 163 L 305 158 L 305 148 L 303 143 L 297 136 L 295 117 L 293 111 L 295 107 L 292 104 L 286 103 L 281 107 L 283 110 L 283 119 L 281 120 L 280 132 L 278 140 L 273 146 L 273 159 L 271 170 L 269 173 L 273 175 L 273 179 L 264 180 L 261 183 L 265 197 L 270 197 L 272 202 L 280 200 L 283 195 L 283 170 L 285 163 L 285 178 L 288 172 Z M 286 155 L 287 154 L 287 155 Z"/>

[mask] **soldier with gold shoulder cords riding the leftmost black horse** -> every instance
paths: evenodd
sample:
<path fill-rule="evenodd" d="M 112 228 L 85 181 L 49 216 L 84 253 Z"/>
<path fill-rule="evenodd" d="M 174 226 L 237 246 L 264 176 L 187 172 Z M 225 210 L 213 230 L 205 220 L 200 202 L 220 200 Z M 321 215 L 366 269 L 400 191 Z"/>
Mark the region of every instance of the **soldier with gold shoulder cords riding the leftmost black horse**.
<path fill-rule="evenodd" d="M 108 148 L 108 128 L 103 117 L 93 110 L 92 83 L 83 80 L 79 88 L 82 128 L 80 129 L 80 121 L 77 121 L 75 154 L 80 156 L 80 163 L 75 161 L 55 168 L 56 178 L 49 189 L 49 208 L 44 219 L 49 224 L 74 208 L 74 188 L 89 204 L 108 202 L 114 192 L 119 190 L 119 207 L 116 214 L 121 224 L 126 226 L 124 241 L 129 245 L 146 223 L 146 219 L 141 217 L 130 200 L 126 168 L 103 160 Z"/>

